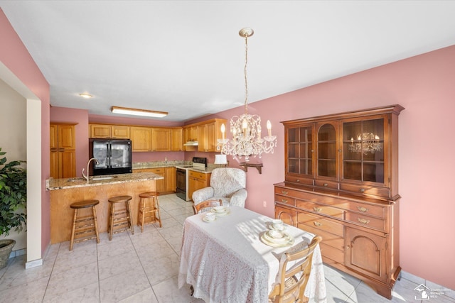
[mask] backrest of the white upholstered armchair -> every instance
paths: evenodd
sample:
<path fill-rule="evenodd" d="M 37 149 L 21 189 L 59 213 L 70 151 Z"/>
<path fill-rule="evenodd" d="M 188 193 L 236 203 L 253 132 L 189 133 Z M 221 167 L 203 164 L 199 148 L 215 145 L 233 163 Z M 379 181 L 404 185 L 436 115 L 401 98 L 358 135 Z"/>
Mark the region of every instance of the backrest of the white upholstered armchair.
<path fill-rule="evenodd" d="M 247 186 L 247 174 L 240 168 L 215 168 L 210 176 L 214 197 L 230 197 L 233 192 Z"/>

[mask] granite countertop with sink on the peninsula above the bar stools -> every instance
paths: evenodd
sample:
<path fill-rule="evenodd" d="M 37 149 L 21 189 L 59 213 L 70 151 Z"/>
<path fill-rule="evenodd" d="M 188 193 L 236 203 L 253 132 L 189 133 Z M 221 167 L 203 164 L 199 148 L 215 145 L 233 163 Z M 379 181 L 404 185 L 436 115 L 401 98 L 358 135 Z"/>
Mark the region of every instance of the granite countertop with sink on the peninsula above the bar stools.
<path fill-rule="evenodd" d="M 124 182 L 139 182 L 147 180 L 161 180 L 164 177 L 156 175 L 153 172 L 133 172 L 132 174 L 119 174 L 119 175 L 105 175 L 105 176 L 92 176 L 90 182 L 82 177 L 67 178 L 67 179 L 54 179 L 50 178 L 45 181 L 45 189 L 68 189 L 76 187 L 89 187 L 100 186 L 106 184 L 119 184 Z"/>

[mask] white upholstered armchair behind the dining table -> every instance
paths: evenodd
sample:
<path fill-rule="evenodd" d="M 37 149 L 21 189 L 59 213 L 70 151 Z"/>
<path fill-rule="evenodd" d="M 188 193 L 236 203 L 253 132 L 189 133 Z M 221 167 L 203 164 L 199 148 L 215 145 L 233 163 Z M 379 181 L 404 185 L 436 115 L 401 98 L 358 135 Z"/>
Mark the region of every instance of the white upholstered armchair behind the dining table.
<path fill-rule="evenodd" d="M 210 186 L 193 192 L 194 204 L 208 199 L 221 199 L 225 206 L 245 207 L 247 199 L 247 174 L 239 168 L 215 168 L 210 176 Z"/>

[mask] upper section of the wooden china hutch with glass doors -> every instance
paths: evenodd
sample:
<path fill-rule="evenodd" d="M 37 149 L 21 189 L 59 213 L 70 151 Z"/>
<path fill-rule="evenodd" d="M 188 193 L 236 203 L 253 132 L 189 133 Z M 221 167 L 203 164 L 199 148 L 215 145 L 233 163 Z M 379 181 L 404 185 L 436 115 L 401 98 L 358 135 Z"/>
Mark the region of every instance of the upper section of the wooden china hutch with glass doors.
<path fill-rule="evenodd" d="M 393 197 L 402 106 L 285 121 L 285 178 L 295 184 Z"/>

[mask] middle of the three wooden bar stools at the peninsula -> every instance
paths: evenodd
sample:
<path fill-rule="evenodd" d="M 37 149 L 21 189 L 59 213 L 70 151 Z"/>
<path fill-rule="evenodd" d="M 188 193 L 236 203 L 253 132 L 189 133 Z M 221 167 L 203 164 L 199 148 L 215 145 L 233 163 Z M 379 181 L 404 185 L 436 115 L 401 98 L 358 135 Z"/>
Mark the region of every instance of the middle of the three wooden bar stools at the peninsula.
<path fill-rule="evenodd" d="M 110 203 L 110 218 L 109 226 L 107 228 L 109 232 L 109 241 L 112 240 L 112 234 L 122 233 L 123 231 L 131 231 L 134 235 L 134 227 L 132 222 L 132 211 L 130 202 L 133 197 L 131 196 L 117 196 L 111 197 L 107 201 Z M 117 204 L 124 204 L 124 207 L 117 209 Z"/>

